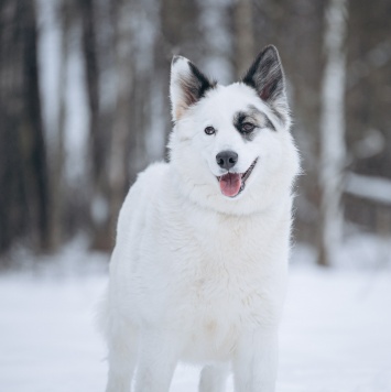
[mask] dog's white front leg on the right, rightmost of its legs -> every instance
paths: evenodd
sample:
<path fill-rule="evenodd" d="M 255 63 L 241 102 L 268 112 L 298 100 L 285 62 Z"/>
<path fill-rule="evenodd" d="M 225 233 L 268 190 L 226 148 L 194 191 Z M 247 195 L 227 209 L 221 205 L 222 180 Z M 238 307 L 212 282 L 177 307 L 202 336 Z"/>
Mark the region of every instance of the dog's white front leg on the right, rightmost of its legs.
<path fill-rule="evenodd" d="M 233 360 L 236 392 L 274 392 L 276 367 L 276 328 L 249 333 L 239 341 Z"/>

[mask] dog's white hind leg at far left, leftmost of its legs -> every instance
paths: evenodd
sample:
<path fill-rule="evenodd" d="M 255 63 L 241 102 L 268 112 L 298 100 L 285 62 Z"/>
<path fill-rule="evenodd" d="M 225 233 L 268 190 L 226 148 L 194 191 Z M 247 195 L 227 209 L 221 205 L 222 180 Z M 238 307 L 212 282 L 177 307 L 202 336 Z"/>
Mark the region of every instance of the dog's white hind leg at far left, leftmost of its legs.
<path fill-rule="evenodd" d="M 122 326 L 112 331 L 108 338 L 108 347 L 109 375 L 106 392 L 129 392 L 137 364 L 137 330 Z"/>

